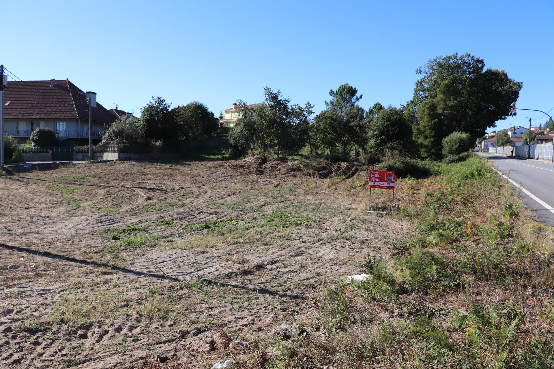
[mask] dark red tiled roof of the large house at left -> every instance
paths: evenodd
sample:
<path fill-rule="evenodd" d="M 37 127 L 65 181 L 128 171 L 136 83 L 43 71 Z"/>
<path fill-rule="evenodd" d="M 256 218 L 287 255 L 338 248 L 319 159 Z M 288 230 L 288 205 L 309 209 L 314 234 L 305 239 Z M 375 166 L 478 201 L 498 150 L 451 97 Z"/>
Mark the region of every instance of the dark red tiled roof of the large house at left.
<path fill-rule="evenodd" d="M 82 95 L 81 95 L 82 93 Z M 86 94 L 68 80 L 8 81 L 4 90 L 4 119 L 89 119 Z M 6 103 L 9 101 L 9 104 Z M 96 102 L 93 121 L 112 123 L 116 117 Z"/>

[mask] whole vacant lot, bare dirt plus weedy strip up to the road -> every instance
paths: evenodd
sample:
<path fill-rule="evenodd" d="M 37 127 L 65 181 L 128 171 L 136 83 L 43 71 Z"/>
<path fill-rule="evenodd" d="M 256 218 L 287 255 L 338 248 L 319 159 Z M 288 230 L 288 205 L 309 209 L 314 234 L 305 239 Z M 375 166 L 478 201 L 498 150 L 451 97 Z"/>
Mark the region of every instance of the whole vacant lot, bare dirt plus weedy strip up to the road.
<path fill-rule="evenodd" d="M 361 168 L 316 164 L 0 177 L 0 362 L 552 366 L 552 230 L 483 162 L 400 180 L 384 215 Z"/>

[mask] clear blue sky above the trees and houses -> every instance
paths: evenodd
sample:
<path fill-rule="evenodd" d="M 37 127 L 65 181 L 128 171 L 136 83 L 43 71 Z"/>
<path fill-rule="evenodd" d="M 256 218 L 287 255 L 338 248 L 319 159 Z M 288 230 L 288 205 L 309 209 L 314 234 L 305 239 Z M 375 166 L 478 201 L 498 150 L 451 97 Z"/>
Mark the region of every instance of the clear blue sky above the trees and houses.
<path fill-rule="evenodd" d="M 216 116 L 263 87 L 324 108 L 357 87 L 368 108 L 406 103 L 429 59 L 455 52 L 523 82 L 517 106 L 554 107 L 554 2 L 3 2 L 0 63 L 23 80 L 64 79 L 139 113 L 151 96 Z M 551 111 L 551 114 L 554 110 Z M 546 121 L 519 112 L 499 128 Z M 541 118 L 542 117 L 542 118 Z"/>

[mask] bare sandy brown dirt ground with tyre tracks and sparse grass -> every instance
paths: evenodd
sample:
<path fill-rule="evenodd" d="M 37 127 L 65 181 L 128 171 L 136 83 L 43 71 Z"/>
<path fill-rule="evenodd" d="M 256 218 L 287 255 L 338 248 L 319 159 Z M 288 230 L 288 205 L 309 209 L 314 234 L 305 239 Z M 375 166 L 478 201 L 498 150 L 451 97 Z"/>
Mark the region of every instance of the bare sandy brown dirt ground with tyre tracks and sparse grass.
<path fill-rule="evenodd" d="M 409 232 L 367 213 L 358 169 L 111 162 L 0 177 L 0 366 L 248 355 Z M 221 331 L 239 341 L 213 341 Z"/>

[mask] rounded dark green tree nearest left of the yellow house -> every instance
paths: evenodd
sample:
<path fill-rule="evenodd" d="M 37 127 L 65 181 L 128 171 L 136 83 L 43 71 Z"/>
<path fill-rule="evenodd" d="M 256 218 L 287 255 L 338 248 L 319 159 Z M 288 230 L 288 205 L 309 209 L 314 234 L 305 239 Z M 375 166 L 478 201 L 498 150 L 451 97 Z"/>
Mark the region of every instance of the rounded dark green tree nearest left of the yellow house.
<path fill-rule="evenodd" d="M 173 110 L 187 130 L 186 136 L 193 140 L 208 139 L 218 131 L 218 119 L 201 102 L 193 101 L 187 105 L 176 106 Z"/>

